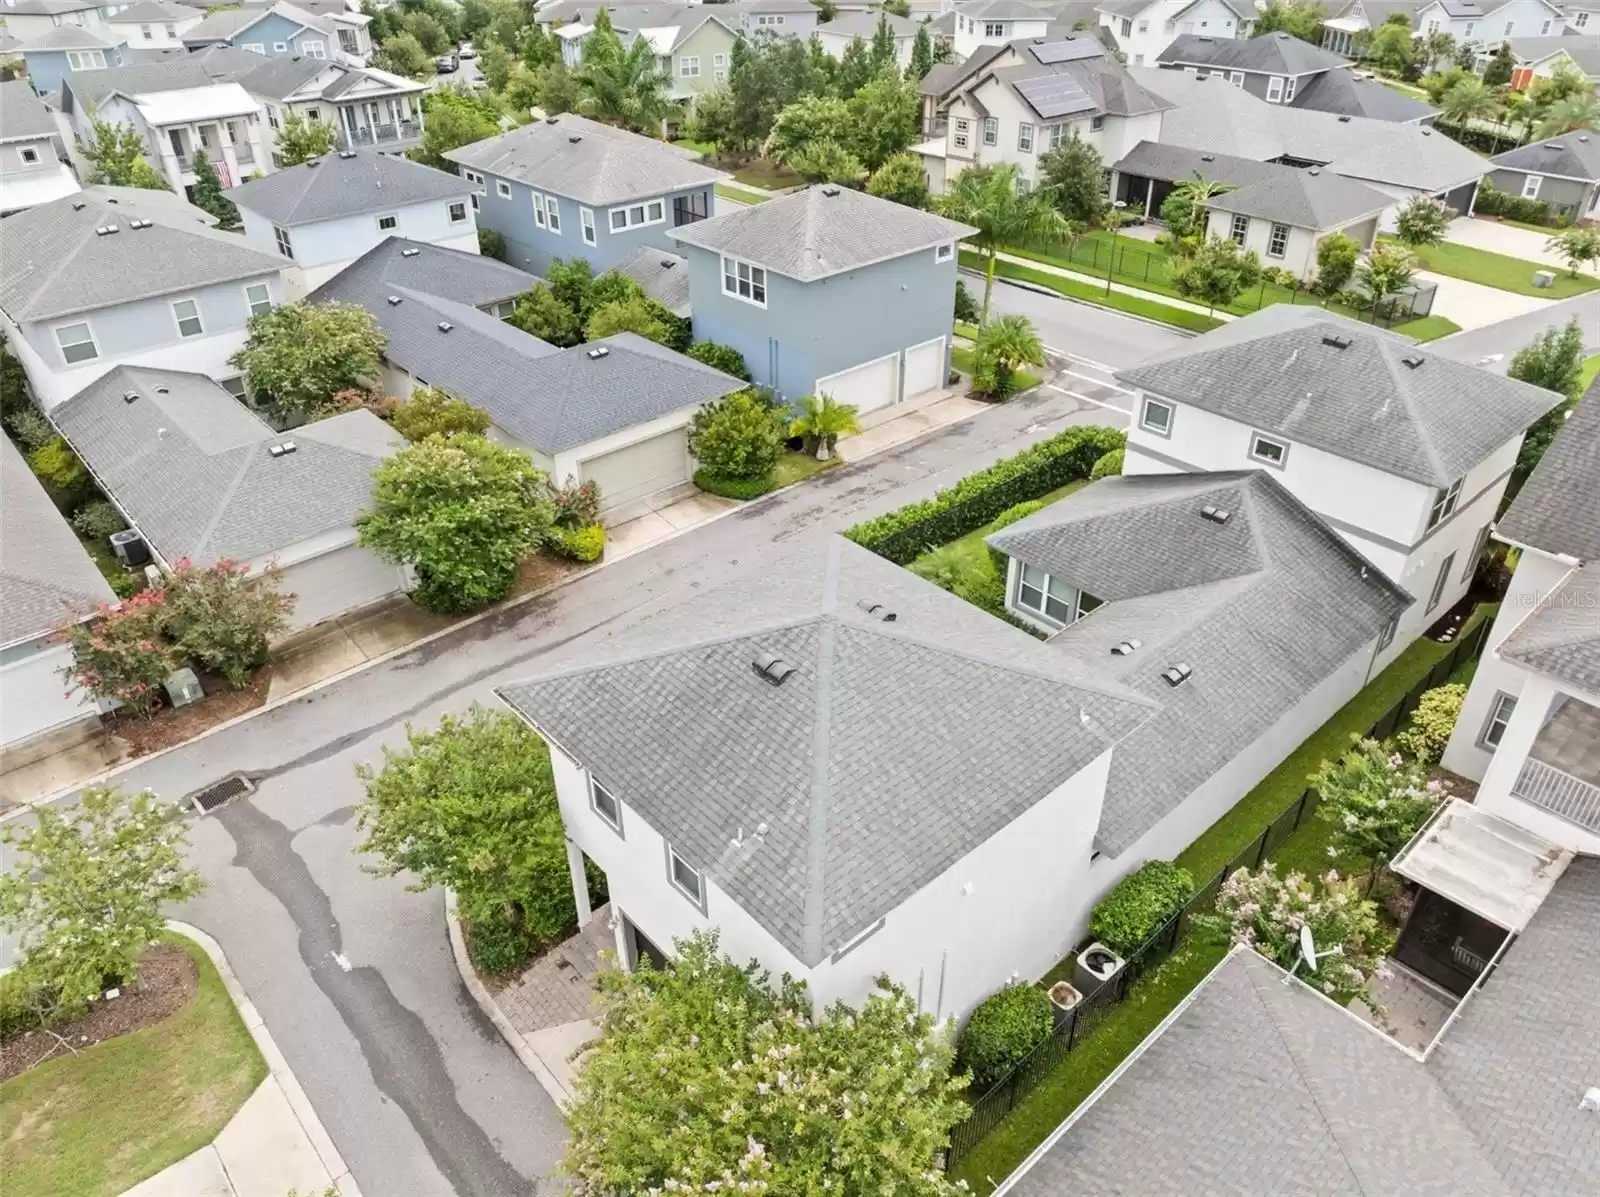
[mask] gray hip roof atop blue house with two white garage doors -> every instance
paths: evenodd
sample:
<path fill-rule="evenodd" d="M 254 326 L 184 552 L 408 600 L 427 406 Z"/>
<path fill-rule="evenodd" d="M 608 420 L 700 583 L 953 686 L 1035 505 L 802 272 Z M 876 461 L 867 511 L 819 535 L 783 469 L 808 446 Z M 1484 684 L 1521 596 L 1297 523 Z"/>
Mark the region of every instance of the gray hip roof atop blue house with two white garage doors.
<path fill-rule="evenodd" d="M 818 186 L 685 224 L 667 235 L 803 283 L 902 258 L 978 232 L 893 200 Z"/>

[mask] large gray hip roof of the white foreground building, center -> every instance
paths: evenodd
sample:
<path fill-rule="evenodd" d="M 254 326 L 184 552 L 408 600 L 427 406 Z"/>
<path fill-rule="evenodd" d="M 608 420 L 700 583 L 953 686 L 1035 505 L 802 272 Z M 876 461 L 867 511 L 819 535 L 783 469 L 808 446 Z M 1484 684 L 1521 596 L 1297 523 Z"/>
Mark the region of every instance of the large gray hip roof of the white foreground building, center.
<path fill-rule="evenodd" d="M 762 653 L 795 674 L 762 680 Z M 499 693 L 808 965 L 1147 714 L 840 538 Z"/>

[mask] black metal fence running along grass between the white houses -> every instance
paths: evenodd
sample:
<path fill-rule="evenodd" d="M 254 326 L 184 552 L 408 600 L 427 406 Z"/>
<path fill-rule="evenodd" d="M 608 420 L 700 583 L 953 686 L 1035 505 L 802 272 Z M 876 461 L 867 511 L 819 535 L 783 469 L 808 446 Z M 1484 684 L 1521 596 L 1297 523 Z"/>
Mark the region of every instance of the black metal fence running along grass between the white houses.
<path fill-rule="evenodd" d="M 1366 730 L 1373 739 L 1392 736 L 1406 715 L 1410 715 L 1422 695 L 1434 687 L 1443 685 L 1462 661 L 1470 661 L 1483 650 L 1490 621 L 1485 619 L 1454 647 L 1440 658 L 1427 675 L 1413 685 L 1405 696 Z M 1123 968 L 1110 979 L 1083 994 L 1083 1000 L 1072 1008 L 1066 1019 L 1058 1021 L 1050 1035 L 1024 1056 L 1016 1067 L 995 1082 L 982 1096 L 973 1103 L 973 1112 L 950 1131 L 950 1149 L 946 1154 L 946 1168 L 960 1163 L 973 1147 L 989 1135 L 1006 1114 L 1016 1109 L 1038 1083 L 1048 1077 L 1056 1066 L 1072 1055 L 1099 1024 L 1106 1013 L 1122 1002 L 1128 991 L 1138 984 L 1139 978 L 1160 965 L 1178 951 L 1178 946 L 1189 935 L 1195 915 L 1206 914 L 1216 901 L 1222 882 L 1237 869 L 1259 869 L 1272 858 L 1278 848 L 1293 835 L 1322 805 L 1322 795 L 1314 789 L 1306 789 L 1294 802 L 1272 819 L 1248 847 L 1234 855 L 1222 869 L 1198 887 L 1184 907 L 1174 914 L 1155 935 L 1146 939 L 1130 957 Z"/>

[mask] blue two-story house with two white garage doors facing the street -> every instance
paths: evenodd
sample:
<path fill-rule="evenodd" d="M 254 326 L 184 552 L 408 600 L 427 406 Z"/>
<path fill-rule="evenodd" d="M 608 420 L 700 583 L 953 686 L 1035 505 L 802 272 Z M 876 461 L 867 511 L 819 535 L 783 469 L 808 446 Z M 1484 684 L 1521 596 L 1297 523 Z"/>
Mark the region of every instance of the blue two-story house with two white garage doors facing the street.
<path fill-rule="evenodd" d="M 827 184 L 672 237 L 696 341 L 738 349 L 786 402 L 827 394 L 867 413 L 946 384 L 957 242 L 974 232 Z"/>

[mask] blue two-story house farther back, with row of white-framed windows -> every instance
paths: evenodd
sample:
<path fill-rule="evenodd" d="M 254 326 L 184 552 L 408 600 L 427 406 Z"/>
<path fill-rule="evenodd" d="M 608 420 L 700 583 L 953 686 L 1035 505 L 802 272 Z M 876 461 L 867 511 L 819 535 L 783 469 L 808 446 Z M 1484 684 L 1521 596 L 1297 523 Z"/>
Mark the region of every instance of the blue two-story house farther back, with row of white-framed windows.
<path fill-rule="evenodd" d="M 710 218 L 723 171 L 690 150 L 563 114 L 445 154 L 474 184 L 478 227 L 506 238 L 506 258 L 542 275 L 557 258 L 595 274 L 642 246 Z"/>

